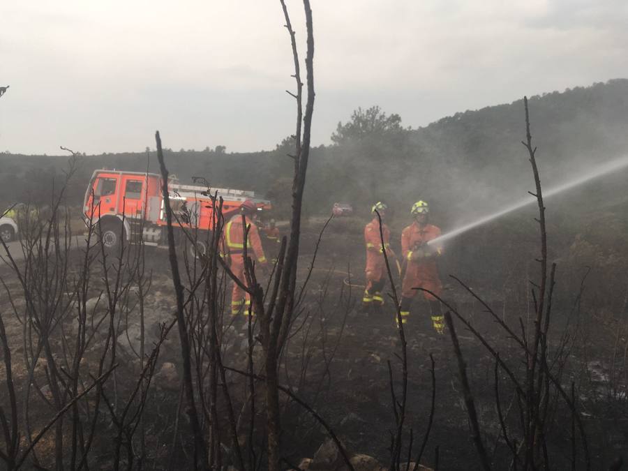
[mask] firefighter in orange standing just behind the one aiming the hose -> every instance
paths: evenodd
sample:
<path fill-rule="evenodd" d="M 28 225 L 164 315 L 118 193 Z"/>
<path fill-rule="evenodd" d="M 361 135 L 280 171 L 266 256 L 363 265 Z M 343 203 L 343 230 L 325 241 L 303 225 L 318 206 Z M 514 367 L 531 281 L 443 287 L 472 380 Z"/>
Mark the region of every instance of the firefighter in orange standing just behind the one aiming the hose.
<path fill-rule="evenodd" d="M 364 243 L 366 244 L 366 289 L 362 298 L 362 305 L 365 311 L 371 307 L 379 310 L 384 304 L 382 288 L 386 281 L 386 261 L 384 260 L 384 250 L 389 257 L 394 257 L 395 253 L 390 248 L 390 230 L 384 220 L 386 217 L 387 205 L 382 202 L 373 204 L 371 213 L 373 220 L 364 227 Z M 375 211 L 382 218 L 382 234 L 380 234 L 380 220 Z M 384 247 L 382 248 L 382 235 Z"/>

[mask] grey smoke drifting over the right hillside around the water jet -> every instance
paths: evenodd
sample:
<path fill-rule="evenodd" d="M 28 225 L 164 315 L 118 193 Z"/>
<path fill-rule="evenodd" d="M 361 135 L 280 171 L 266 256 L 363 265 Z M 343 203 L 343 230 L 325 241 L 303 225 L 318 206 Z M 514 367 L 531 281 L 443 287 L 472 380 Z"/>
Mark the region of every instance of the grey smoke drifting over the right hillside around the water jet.
<path fill-rule="evenodd" d="M 628 107 L 622 97 L 627 91 L 626 80 L 614 80 L 530 98 L 532 140 L 546 197 L 554 194 L 550 190 L 580 197 L 576 187 L 588 177 L 608 179 L 624 169 Z M 441 119 L 412 131 L 410 141 L 416 149 L 412 165 L 399 169 L 405 172 L 401 180 L 377 190 L 398 195 L 406 221 L 413 201 L 428 201 L 431 219 L 443 232 L 520 204 L 523 208 L 527 203 L 522 202 L 530 201 L 528 191 L 534 190 L 528 151 L 521 144 L 524 138 L 523 100 Z M 394 154 L 392 149 L 388 152 Z M 396 163 L 390 160 L 389 165 Z M 595 189 L 607 191 L 611 195 L 606 197 L 622 197 L 610 187 Z M 593 199 L 588 194 L 551 204 L 560 204 L 569 214 L 577 208 L 575 216 L 584 217 L 595 211 Z"/>

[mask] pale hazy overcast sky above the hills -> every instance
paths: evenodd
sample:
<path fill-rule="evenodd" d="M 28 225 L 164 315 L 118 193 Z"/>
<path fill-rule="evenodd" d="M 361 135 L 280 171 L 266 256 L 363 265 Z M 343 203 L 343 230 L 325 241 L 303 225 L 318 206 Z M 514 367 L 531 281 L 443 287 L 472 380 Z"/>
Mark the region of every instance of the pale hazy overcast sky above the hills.
<path fill-rule="evenodd" d="M 311 0 L 313 144 L 628 76 L 625 0 Z M 287 0 L 305 57 L 299 0 Z M 278 0 L 0 2 L 0 151 L 272 149 L 294 133 Z M 0 157 L 1 158 L 1 157 Z"/>

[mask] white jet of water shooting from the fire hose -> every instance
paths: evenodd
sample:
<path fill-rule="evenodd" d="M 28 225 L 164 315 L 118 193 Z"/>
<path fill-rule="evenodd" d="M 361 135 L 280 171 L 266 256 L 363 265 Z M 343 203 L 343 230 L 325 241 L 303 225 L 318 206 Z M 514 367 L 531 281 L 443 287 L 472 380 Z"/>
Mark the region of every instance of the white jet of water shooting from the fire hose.
<path fill-rule="evenodd" d="M 599 165 L 599 167 L 597 167 L 595 170 L 592 170 L 590 172 L 587 172 L 581 175 L 581 177 L 578 177 L 571 181 L 567 181 L 567 183 L 565 184 L 555 186 L 554 188 L 544 191 L 543 198 L 546 199 L 554 195 L 558 195 L 559 193 L 563 193 L 567 190 L 571 190 L 571 188 L 575 188 L 576 186 L 585 184 L 590 180 L 596 179 L 598 177 L 604 177 L 604 175 L 609 174 L 611 172 L 622 170 L 625 167 L 628 167 L 628 156 L 624 156 L 622 158 L 616 158 L 615 160 L 610 160 L 607 163 Z M 489 223 L 494 219 L 501 218 L 502 216 L 505 216 L 506 214 L 516 211 L 517 209 L 526 207 L 528 206 L 528 204 L 532 204 L 534 202 L 537 202 L 536 197 L 533 197 L 533 196 L 526 197 L 520 202 L 511 204 L 511 206 L 507 208 L 500 209 L 500 211 L 496 211 L 493 214 L 488 214 L 487 216 L 483 216 L 477 220 L 474 220 L 471 223 L 468 223 L 456 229 L 450 230 L 449 232 L 445 232 L 440 237 L 436 237 L 435 239 L 428 241 L 428 245 L 438 244 L 438 243 L 447 241 L 449 239 L 453 239 L 454 237 L 456 237 L 459 234 L 462 234 L 463 232 L 472 230 L 474 227 L 478 227 L 479 225 Z"/>

